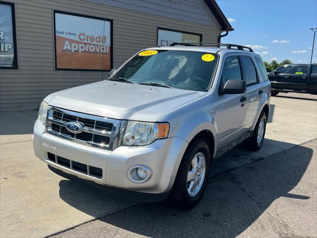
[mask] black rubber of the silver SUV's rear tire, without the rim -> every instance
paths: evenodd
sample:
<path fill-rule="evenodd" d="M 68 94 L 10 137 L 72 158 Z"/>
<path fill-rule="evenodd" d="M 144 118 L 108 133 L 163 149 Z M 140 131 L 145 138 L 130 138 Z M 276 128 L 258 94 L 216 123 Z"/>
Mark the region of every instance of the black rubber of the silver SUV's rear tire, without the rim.
<path fill-rule="evenodd" d="M 264 120 L 264 131 L 263 131 L 262 140 L 259 143 L 258 142 L 258 132 L 259 132 L 259 125 L 260 125 L 260 122 L 262 119 Z M 266 122 L 267 122 L 266 114 L 264 112 L 262 112 L 258 121 L 257 121 L 256 127 L 254 128 L 252 136 L 249 139 L 245 140 L 243 143 L 243 145 L 246 149 L 252 150 L 252 151 L 258 151 L 261 149 L 261 147 L 263 145 L 263 141 L 264 141 L 264 136 L 265 136 Z"/>

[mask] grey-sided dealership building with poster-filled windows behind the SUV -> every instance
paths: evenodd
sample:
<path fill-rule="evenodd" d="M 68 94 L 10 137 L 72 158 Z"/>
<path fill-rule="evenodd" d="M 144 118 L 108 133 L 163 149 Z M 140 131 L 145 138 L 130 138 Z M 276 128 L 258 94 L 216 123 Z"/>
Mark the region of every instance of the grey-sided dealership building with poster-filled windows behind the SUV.
<path fill-rule="evenodd" d="M 144 48 L 231 30 L 215 0 L 0 0 L 0 111 L 36 110 Z"/>

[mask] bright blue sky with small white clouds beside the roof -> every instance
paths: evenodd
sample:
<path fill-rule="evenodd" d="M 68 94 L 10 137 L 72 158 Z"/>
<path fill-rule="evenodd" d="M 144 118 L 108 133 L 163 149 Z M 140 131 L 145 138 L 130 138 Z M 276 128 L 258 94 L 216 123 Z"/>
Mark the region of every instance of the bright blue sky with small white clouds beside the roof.
<path fill-rule="evenodd" d="M 234 31 L 221 43 L 251 45 L 263 60 L 311 60 L 317 0 L 216 0 Z M 317 38 L 317 33 L 316 33 Z M 317 62 L 315 38 L 313 61 Z"/>

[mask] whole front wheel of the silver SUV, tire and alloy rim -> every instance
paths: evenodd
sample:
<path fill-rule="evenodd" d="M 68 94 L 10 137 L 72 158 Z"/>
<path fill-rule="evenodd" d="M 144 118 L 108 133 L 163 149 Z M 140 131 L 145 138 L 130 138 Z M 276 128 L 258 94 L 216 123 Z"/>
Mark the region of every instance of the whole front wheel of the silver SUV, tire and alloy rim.
<path fill-rule="evenodd" d="M 211 154 L 207 142 L 194 140 L 187 148 L 167 201 L 175 207 L 190 209 L 201 199 L 209 176 Z"/>

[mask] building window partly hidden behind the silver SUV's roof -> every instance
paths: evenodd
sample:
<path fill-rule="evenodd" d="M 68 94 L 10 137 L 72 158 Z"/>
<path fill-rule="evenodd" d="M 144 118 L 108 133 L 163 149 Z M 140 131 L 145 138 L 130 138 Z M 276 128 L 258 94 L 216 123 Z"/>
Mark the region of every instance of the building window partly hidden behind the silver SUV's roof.
<path fill-rule="evenodd" d="M 193 43 L 202 42 L 203 35 L 185 31 L 177 31 L 166 28 L 158 28 L 157 45 L 169 46 L 170 44 L 177 43 Z"/>

